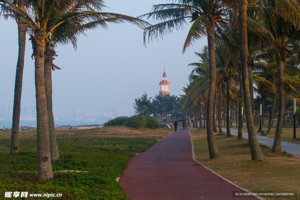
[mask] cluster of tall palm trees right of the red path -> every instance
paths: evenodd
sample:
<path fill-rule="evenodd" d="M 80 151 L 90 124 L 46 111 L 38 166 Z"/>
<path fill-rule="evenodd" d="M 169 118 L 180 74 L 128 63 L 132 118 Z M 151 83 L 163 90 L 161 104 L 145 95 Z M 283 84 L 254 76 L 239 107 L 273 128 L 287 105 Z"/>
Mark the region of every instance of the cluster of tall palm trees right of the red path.
<path fill-rule="evenodd" d="M 185 89 L 186 104 L 205 104 L 211 159 L 219 157 L 214 142 L 217 94 L 220 118 L 222 93 L 226 88 L 226 115 L 229 116 L 231 102 L 237 104 L 238 101 L 241 117 L 244 104 L 252 160 L 265 161 L 254 130 L 253 83 L 256 92 L 262 96 L 278 96 L 279 111 L 272 151 L 281 152 L 285 100 L 298 94 L 299 1 L 177 0 L 172 4 L 154 5 L 150 13 L 141 17 L 159 22 L 145 28 L 145 43 L 147 37 L 150 41 L 182 30 L 188 22 L 192 24 L 183 53 L 193 42 L 207 37 L 208 46 L 199 53 L 200 63 L 191 64 L 196 68 L 190 85 Z M 232 98 L 235 100 L 231 101 Z M 227 118 L 227 135 L 230 134 L 229 120 Z M 240 127 L 241 123 L 238 124 Z"/>

